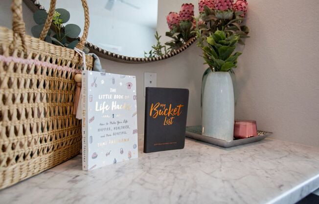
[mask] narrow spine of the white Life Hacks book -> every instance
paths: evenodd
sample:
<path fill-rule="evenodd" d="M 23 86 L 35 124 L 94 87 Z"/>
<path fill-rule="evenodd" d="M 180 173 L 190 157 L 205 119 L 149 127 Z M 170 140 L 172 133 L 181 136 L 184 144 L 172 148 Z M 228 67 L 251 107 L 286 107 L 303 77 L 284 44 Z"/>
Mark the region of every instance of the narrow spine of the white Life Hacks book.
<path fill-rule="evenodd" d="M 87 171 L 89 168 L 88 157 L 88 72 L 82 72 L 82 170 Z"/>

